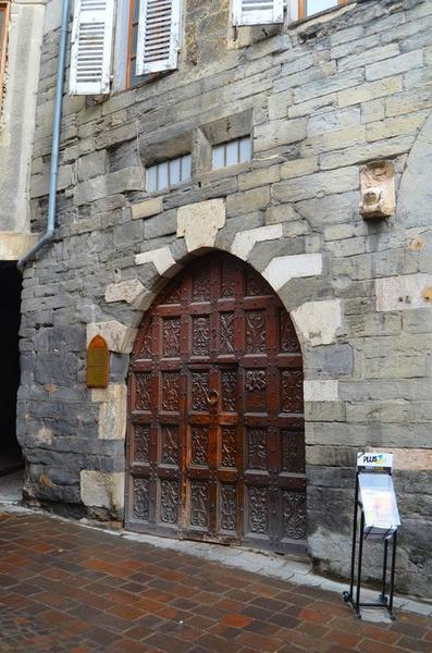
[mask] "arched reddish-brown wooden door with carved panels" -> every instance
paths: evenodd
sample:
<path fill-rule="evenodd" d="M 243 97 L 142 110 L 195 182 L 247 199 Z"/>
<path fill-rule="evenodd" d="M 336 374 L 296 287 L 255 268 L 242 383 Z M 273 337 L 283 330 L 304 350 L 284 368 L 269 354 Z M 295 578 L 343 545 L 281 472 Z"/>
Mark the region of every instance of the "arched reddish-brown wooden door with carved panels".
<path fill-rule="evenodd" d="M 300 347 L 279 297 L 229 255 L 190 264 L 132 356 L 127 528 L 303 549 L 303 411 Z"/>

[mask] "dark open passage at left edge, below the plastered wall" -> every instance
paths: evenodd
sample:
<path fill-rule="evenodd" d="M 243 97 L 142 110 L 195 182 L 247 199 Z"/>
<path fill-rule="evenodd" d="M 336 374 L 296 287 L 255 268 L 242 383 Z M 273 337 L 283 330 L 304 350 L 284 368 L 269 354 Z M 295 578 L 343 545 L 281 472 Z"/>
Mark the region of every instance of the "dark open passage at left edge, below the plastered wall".
<path fill-rule="evenodd" d="M 22 453 L 16 440 L 21 283 L 16 264 L 0 262 L 0 475 L 22 466 Z"/>

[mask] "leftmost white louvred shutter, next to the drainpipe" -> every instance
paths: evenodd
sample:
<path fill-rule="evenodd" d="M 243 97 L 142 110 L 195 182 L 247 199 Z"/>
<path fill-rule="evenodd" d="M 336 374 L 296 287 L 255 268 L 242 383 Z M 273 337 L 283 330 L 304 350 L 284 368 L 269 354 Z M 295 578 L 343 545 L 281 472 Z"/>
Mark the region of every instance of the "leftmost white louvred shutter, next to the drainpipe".
<path fill-rule="evenodd" d="M 114 0 L 75 0 L 71 95 L 110 93 Z"/>

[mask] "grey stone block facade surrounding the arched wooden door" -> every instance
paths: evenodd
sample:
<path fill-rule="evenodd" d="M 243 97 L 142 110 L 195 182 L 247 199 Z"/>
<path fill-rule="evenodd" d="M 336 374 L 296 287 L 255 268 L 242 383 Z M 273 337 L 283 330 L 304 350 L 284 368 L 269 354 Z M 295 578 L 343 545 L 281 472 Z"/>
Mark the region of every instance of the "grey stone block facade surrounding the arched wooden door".
<path fill-rule="evenodd" d="M 25 497 L 124 519 L 134 343 L 139 362 L 166 287 L 194 280 L 202 255 L 226 252 L 266 280 L 261 294 L 284 307 L 301 349 L 308 554 L 346 577 L 356 453 L 393 452 L 398 588 L 431 597 L 432 2 L 349 2 L 237 28 L 227 0 L 183 5 L 177 70 L 64 98 L 58 229 L 23 278 Z M 46 10 L 35 231 L 47 206 L 57 9 Z M 250 160 L 214 170 L 218 146 L 249 136 Z M 189 178 L 146 192 L 151 168 L 189 156 Z M 106 390 L 86 386 L 95 335 L 110 349 Z"/>

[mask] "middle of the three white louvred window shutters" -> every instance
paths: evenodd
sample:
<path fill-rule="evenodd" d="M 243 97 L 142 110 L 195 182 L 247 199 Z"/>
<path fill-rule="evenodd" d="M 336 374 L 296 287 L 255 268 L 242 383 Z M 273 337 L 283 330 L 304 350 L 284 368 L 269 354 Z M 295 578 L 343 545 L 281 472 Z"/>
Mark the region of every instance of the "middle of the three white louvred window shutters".
<path fill-rule="evenodd" d="M 141 0 L 139 5 L 136 74 L 177 67 L 181 0 Z"/>

